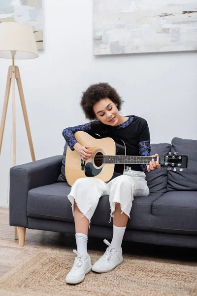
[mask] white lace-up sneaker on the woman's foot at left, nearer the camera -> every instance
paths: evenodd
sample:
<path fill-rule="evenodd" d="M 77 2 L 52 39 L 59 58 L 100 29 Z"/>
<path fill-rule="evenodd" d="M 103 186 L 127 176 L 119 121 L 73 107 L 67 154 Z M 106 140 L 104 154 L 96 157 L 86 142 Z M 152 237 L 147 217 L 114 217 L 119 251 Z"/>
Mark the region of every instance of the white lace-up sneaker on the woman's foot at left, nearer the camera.
<path fill-rule="evenodd" d="M 73 252 L 76 254 L 76 257 L 71 270 L 66 275 L 65 280 L 67 284 L 81 283 L 84 280 L 86 273 L 90 272 L 92 269 L 89 255 L 81 256 L 76 250 L 73 250 Z"/>

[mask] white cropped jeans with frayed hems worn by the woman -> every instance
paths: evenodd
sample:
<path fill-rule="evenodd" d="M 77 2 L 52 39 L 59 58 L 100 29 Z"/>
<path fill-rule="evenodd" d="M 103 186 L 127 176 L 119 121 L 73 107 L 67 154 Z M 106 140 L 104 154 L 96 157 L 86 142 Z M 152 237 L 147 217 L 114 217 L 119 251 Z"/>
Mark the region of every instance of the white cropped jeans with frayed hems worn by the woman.
<path fill-rule="evenodd" d="M 102 195 L 109 195 L 110 221 L 115 211 L 116 203 L 120 203 L 121 214 L 125 213 L 130 218 L 132 201 L 134 196 L 149 195 L 149 188 L 145 180 L 144 172 L 124 171 L 108 183 L 97 178 L 80 178 L 71 187 L 68 199 L 72 204 L 72 214 L 74 216 L 74 201 L 83 214 L 91 222 L 91 218 Z M 109 222 L 110 222 L 109 221 Z"/>

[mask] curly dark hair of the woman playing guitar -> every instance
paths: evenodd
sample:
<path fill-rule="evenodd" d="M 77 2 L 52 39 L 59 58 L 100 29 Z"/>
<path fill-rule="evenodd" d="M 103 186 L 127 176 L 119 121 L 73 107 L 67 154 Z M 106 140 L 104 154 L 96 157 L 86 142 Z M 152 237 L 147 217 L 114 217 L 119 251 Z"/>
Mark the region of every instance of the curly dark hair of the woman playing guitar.
<path fill-rule="evenodd" d="M 117 104 L 118 111 L 121 110 L 123 100 L 112 86 L 108 83 L 100 82 L 90 85 L 86 91 L 82 93 L 80 106 L 85 113 L 87 119 L 96 119 L 93 106 L 101 99 L 108 98 Z"/>

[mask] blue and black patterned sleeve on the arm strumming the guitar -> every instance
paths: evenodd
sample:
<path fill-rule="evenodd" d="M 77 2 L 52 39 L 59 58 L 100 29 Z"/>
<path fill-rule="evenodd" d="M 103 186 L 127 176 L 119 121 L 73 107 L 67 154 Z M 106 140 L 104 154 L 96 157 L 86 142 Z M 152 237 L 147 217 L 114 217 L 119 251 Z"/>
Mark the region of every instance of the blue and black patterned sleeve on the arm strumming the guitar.
<path fill-rule="evenodd" d="M 67 127 L 64 129 L 62 134 L 66 140 L 67 145 L 72 151 L 74 150 L 73 146 L 77 143 L 74 133 L 78 131 L 83 131 L 91 134 L 91 122 L 73 127 Z"/>

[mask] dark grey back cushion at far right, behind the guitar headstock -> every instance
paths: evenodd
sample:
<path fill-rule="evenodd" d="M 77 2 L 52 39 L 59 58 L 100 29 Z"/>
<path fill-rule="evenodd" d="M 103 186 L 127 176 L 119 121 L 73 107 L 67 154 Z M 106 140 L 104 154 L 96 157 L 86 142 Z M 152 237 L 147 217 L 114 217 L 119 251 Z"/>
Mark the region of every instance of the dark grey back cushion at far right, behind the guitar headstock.
<path fill-rule="evenodd" d="M 168 171 L 167 191 L 197 190 L 197 140 L 173 138 L 171 152 L 188 155 L 188 168 L 183 172 Z"/>

